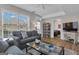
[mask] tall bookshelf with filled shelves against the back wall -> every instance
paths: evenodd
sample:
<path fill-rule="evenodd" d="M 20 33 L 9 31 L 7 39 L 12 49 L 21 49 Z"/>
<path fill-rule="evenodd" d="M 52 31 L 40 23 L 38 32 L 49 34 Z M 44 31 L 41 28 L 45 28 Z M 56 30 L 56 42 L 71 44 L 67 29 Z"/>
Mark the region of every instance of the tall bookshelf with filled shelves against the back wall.
<path fill-rule="evenodd" d="M 43 37 L 50 38 L 50 23 L 43 23 Z"/>

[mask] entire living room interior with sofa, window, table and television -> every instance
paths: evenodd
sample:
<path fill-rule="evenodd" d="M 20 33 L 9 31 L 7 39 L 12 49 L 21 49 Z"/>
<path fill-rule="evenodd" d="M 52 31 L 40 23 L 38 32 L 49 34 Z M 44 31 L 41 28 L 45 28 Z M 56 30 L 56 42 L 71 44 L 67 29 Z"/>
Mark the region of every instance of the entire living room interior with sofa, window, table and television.
<path fill-rule="evenodd" d="M 0 54 L 78 55 L 78 7 L 78 4 L 0 5 Z"/>

